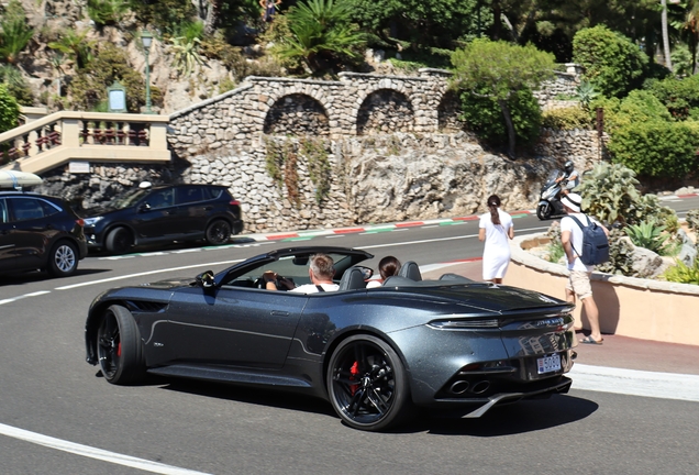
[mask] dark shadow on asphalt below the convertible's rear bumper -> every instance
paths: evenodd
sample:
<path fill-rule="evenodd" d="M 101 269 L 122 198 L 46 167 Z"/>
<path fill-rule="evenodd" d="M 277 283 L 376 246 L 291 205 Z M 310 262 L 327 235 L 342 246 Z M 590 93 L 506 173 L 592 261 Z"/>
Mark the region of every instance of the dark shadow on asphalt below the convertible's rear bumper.
<path fill-rule="evenodd" d="M 439 418 L 415 421 L 421 431 L 442 435 L 481 438 L 512 435 L 551 429 L 582 420 L 599 405 L 569 395 L 554 395 L 550 399 L 524 400 L 495 407 L 477 419 Z M 428 422 L 426 424 L 424 422 Z"/>

